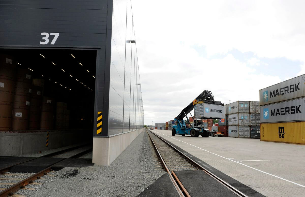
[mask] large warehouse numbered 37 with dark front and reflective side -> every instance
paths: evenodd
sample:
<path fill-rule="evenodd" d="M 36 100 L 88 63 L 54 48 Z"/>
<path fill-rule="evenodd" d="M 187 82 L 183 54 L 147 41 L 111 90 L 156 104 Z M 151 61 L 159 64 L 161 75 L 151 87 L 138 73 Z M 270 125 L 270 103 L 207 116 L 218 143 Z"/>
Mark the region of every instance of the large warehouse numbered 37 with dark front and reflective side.
<path fill-rule="evenodd" d="M 131 0 L 0 7 L 1 155 L 93 137 L 92 162 L 108 166 L 144 127 Z"/>

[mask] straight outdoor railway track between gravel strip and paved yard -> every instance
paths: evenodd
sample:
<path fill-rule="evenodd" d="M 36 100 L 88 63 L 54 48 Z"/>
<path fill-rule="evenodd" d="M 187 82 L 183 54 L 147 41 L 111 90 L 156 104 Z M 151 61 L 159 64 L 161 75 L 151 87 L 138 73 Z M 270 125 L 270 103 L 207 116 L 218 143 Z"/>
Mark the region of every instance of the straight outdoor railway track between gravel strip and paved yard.
<path fill-rule="evenodd" d="M 215 174 L 211 173 L 209 170 L 205 169 L 203 166 L 199 165 L 197 162 L 189 158 L 187 155 L 183 154 L 181 151 L 171 146 L 167 141 L 163 140 L 161 137 L 152 133 L 150 130 L 146 130 L 156 152 L 158 153 L 163 167 L 167 171 L 168 175 L 175 188 L 177 189 L 180 196 L 189 197 L 188 191 L 185 189 L 181 181 L 178 179 L 174 171 L 180 170 L 203 170 L 210 177 L 213 177 L 216 181 L 221 183 L 224 187 L 231 190 L 237 196 L 247 197 L 244 193 L 240 192 L 238 189 L 234 188 L 226 181 L 217 177 Z"/>

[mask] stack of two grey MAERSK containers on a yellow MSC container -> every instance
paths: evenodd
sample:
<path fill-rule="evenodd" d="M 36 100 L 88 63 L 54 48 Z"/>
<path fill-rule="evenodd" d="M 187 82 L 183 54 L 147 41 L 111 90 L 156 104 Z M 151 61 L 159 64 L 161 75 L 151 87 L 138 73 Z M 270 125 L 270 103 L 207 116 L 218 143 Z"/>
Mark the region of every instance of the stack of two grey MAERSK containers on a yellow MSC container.
<path fill-rule="evenodd" d="M 260 90 L 262 141 L 305 144 L 305 74 Z"/>

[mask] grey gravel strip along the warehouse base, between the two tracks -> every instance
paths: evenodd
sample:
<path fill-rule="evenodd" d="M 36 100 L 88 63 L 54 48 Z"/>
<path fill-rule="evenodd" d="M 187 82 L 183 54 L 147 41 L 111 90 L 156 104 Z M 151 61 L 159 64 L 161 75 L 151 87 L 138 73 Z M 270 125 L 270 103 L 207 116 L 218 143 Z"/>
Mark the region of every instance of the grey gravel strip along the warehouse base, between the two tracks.
<path fill-rule="evenodd" d="M 63 168 L 27 196 L 137 196 L 164 173 L 145 131 L 108 167 Z"/>

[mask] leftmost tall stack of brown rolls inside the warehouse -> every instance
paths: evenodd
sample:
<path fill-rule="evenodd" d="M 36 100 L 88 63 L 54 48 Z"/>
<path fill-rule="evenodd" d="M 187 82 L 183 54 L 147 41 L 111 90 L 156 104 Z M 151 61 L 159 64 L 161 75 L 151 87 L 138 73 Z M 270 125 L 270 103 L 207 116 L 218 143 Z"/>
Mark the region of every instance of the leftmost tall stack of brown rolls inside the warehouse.
<path fill-rule="evenodd" d="M 12 130 L 16 60 L 0 54 L 0 130 Z"/>

